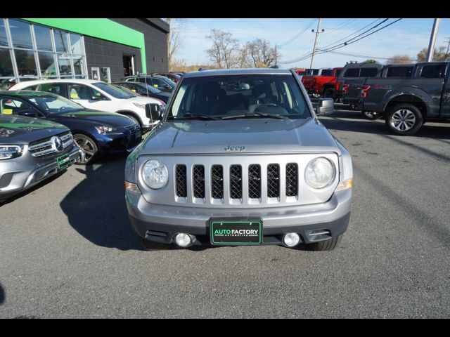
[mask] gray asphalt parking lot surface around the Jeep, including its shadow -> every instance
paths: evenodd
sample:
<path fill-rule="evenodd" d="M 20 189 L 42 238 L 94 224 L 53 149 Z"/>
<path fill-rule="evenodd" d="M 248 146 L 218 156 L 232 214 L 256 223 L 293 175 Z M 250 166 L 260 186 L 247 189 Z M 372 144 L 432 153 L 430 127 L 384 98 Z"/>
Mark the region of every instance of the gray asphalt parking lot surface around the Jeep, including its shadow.
<path fill-rule="evenodd" d="M 343 107 L 321 117 L 354 166 L 335 251 L 143 251 L 113 157 L 0 207 L 0 317 L 449 318 L 450 124 L 394 136 Z"/>

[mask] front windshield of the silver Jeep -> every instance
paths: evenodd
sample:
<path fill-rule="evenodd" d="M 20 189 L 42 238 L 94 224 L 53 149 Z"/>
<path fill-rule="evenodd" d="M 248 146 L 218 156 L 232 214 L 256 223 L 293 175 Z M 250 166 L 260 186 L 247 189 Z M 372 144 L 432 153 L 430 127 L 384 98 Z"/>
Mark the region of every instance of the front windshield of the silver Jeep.
<path fill-rule="evenodd" d="M 238 74 L 183 79 L 167 119 L 311 117 L 291 74 Z"/>

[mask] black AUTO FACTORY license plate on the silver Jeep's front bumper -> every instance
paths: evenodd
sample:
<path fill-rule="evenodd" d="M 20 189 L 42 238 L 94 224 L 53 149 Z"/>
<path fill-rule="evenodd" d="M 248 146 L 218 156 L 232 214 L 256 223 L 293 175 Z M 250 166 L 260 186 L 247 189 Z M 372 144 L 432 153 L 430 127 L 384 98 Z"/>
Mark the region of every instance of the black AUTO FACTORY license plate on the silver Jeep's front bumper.
<path fill-rule="evenodd" d="M 211 244 L 262 244 L 261 220 L 210 220 Z"/>

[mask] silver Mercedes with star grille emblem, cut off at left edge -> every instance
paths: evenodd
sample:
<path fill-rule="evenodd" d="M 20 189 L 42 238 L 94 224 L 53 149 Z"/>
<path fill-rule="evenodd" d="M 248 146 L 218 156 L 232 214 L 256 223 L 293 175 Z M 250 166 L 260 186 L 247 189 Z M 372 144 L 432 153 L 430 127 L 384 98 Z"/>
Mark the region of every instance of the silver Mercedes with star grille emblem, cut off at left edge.
<path fill-rule="evenodd" d="M 67 126 L 13 115 L 0 98 L 0 202 L 65 170 L 79 158 Z"/>

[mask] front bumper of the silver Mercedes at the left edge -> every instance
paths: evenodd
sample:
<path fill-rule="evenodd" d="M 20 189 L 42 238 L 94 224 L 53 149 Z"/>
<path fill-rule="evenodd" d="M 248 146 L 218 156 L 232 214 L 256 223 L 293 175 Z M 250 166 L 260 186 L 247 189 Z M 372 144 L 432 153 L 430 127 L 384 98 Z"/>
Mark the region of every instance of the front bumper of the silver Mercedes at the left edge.
<path fill-rule="evenodd" d="M 70 165 L 72 165 L 79 158 L 78 147 L 73 146 L 68 154 Z M 32 162 L 28 160 L 25 157 L 18 157 L 0 162 L 0 199 L 13 197 L 13 195 L 65 170 L 65 168 L 58 168 L 56 157 L 45 161 L 44 159 L 32 159 Z M 26 164 L 22 164 L 23 161 Z"/>

